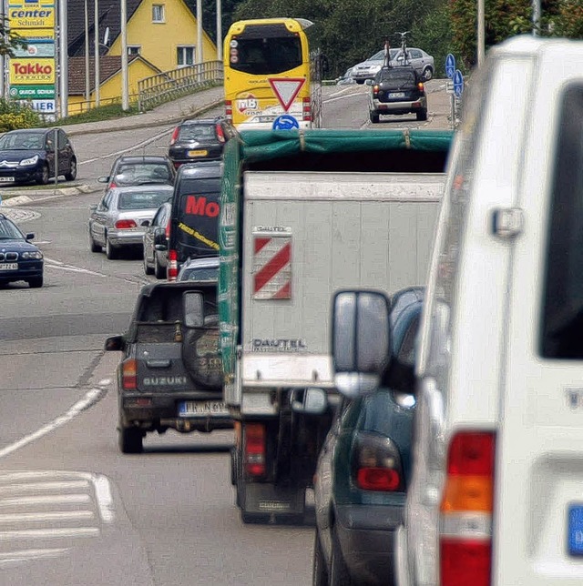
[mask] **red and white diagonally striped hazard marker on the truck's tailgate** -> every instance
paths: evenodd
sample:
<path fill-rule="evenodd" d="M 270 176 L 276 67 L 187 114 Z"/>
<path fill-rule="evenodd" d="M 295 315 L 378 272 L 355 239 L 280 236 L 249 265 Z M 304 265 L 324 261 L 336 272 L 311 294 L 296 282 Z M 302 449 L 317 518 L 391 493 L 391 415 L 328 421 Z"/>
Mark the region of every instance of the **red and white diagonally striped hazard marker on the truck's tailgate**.
<path fill-rule="evenodd" d="M 292 298 L 292 237 L 253 238 L 253 298 Z"/>

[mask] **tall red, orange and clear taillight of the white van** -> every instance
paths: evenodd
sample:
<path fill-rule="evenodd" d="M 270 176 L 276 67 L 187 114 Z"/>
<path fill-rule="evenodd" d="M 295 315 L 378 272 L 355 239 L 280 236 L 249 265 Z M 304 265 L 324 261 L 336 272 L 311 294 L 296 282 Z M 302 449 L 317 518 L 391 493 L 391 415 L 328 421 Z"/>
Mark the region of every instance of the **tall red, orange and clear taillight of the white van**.
<path fill-rule="evenodd" d="M 449 445 L 441 501 L 441 586 L 489 586 L 496 436 L 460 431 Z"/>

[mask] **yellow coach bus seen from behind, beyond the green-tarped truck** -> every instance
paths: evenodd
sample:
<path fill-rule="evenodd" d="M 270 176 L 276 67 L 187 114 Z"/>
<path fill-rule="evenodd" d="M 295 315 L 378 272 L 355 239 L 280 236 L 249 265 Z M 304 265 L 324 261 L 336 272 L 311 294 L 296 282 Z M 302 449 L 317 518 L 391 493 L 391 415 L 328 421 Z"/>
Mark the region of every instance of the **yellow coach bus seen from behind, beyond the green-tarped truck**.
<path fill-rule="evenodd" d="M 322 126 L 322 55 L 303 18 L 240 20 L 224 45 L 225 114 L 238 129 Z"/>

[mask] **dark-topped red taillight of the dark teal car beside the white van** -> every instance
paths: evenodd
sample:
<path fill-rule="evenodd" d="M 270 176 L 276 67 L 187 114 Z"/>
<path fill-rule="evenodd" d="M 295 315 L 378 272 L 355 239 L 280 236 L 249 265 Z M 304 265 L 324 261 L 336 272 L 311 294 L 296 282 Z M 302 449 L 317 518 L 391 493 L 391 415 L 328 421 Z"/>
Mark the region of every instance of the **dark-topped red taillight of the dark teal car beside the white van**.
<path fill-rule="evenodd" d="M 353 481 L 362 490 L 403 491 L 403 465 L 394 441 L 384 435 L 359 431 L 354 437 Z"/>

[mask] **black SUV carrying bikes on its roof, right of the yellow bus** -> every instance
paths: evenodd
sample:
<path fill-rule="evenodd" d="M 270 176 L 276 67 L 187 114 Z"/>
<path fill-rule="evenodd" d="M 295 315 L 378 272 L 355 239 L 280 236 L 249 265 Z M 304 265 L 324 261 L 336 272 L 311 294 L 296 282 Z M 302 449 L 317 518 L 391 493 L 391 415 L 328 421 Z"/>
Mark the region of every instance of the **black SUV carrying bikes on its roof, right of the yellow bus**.
<path fill-rule="evenodd" d="M 369 94 L 369 117 L 379 122 L 385 114 L 411 114 L 427 119 L 427 95 L 423 81 L 411 66 L 382 67 L 374 76 Z"/>

